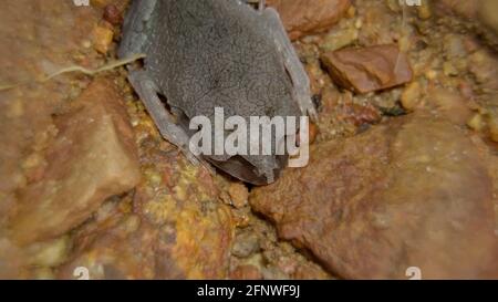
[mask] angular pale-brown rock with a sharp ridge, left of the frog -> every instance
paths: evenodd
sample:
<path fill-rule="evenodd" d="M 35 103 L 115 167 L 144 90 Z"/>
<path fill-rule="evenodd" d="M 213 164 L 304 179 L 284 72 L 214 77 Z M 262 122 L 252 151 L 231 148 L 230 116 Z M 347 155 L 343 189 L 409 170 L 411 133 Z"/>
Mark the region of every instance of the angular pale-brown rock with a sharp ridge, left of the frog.
<path fill-rule="evenodd" d="M 60 236 L 139 181 L 134 134 L 114 84 L 96 80 L 55 117 L 40 180 L 19 192 L 10 229 L 22 243 Z"/>

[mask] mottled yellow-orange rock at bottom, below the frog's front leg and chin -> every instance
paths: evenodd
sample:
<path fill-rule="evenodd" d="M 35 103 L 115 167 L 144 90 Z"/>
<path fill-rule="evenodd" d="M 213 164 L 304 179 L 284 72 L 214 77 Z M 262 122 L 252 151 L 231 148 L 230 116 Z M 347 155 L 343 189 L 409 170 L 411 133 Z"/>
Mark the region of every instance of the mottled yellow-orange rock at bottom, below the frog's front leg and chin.
<path fill-rule="evenodd" d="M 214 178 L 141 121 L 143 180 L 133 200 L 77 232 L 59 278 L 72 279 L 77 267 L 91 279 L 227 278 L 235 223 Z"/>

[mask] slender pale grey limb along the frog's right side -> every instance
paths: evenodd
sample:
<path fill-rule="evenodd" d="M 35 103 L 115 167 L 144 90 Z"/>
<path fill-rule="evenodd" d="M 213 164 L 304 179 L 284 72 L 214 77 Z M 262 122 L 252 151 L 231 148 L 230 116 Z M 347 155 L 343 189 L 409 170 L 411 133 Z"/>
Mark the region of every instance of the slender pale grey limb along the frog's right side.
<path fill-rule="evenodd" d="M 318 121 L 317 108 L 311 100 L 310 79 L 292 46 L 279 13 L 272 8 L 266 8 L 262 12 L 273 34 L 278 51 L 283 58 L 286 69 L 294 86 L 295 98 L 303 114 L 308 114 L 312 121 Z"/>

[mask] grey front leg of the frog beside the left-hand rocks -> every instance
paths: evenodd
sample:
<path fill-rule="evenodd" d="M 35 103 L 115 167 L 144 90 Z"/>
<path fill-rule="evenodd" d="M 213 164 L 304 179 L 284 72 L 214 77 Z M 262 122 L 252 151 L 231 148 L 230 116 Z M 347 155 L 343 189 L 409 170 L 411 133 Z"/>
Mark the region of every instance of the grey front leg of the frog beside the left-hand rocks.
<path fill-rule="evenodd" d="M 169 143 L 176 145 L 190 163 L 198 165 L 201 160 L 190 152 L 191 146 L 189 146 L 188 134 L 175 124 L 175 117 L 165 108 L 157 95 L 159 90 L 154 81 L 144 71 L 131 71 L 128 80 L 144 103 L 148 114 L 151 114 L 160 135 Z"/>

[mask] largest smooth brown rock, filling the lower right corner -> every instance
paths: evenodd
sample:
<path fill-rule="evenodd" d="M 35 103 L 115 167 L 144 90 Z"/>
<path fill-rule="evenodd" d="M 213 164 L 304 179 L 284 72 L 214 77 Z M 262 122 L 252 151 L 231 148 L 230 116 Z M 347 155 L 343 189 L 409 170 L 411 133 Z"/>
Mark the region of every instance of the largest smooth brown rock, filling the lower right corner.
<path fill-rule="evenodd" d="M 421 113 L 317 146 L 250 204 L 343 278 L 497 278 L 485 150 Z"/>

